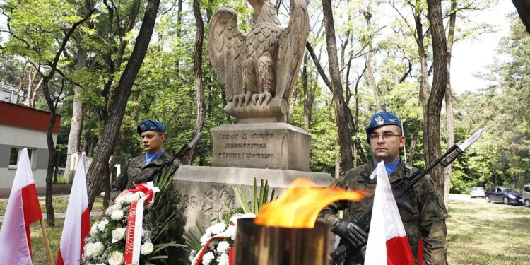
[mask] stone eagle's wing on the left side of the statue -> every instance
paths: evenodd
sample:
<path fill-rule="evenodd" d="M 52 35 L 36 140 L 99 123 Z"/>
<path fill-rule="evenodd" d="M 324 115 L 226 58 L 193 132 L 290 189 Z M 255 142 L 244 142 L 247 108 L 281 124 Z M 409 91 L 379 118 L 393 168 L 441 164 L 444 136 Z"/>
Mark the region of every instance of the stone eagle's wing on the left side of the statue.
<path fill-rule="evenodd" d="M 208 54 L 228 100 L 232 100 L 232 95 L 243 94 L 244 42 L 245 34 L 237 28 L 237 16 L 232 8 L 220 8 L 213 14 L 208 29 Z"/>

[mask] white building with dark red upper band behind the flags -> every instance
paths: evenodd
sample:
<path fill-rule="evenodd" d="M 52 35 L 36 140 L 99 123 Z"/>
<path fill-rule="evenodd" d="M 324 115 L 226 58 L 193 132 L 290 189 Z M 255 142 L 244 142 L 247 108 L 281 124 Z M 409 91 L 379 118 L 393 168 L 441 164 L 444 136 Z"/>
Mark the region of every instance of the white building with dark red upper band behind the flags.
<path fill-rule="evenodd" d="M 37 192 L 43 194 L 48 165 L 46 131 L 51 114 L 1 100 L 4 98 L 0 98 L 0 196 L 8 196 L 11 192 L 18 163 L 18 151 L 22 148 L 28 148 L 35 186 Z M 57 115 L 53 129 L 55 143 L 57 143 L 59 124 L 61 117 Z"/>

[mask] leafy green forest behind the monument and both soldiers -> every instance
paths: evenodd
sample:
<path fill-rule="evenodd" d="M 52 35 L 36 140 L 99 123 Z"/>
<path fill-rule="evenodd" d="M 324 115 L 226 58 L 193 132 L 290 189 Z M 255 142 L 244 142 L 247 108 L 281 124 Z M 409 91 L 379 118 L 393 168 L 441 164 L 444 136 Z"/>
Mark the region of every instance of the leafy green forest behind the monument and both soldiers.
<path fill-rule="evenodd" d="M 272 4 L 287 25 L 290 3 Z M 496 54 L 484 54 L 496 58 L 479 76 L 490 85 L 461 94 L 451 89 L 452 46 L 493 32 L 493 25 L 473 18 L 496 5 L 492 0 L 308 1 L 310 37 L 288 123 L 312 134 L 310 170 L 335 177 L 370 159 L 364 126 L 373 113 L 386 110 L 404 122 L 407 163 L 418 167 L 486 128 L 481 141 L 435 178 L 446 200 L 449 189 L 520 189 L 530 182 L 530 35 L 517 14 L 506 18 L 510 33 Z M 0 83 L 16 88 L 18 104 L 52 112 L 50 124 L 61 115 L 57 143 L 50 141 L 51 132 L 48 139 L 49 225 L 54 167 L 69 163 L 76 151 L 94 157 L 88 173 L 92 204 L 95 194 L 110 189 L 110 181 L 100 181 L 112 178 L 110 169 L 117 163 L 124 168 L 143 153 L 136 134 L 142 119 L 166 125 L 169 152 L 202 131 L 184 162 L 211 165 L 210 130 L 236 122 L 223 112 L 227 100 L 206 51 L 208 22 L 223 6 L 237 11 L 240 30 L 252 27 L 253 10 L 244 0 L 1 2 L 6 23 Z M 433 23 L 437 8 L 442 16 Z M 447 54 L 443 64 L 440 50 Z M 441 115 L 432 116 L 430 108 Z M 424 137 L 433 128 L 440 134 L 438 153 Z M 68 167 L 65 175 L 68 179 Z"/>

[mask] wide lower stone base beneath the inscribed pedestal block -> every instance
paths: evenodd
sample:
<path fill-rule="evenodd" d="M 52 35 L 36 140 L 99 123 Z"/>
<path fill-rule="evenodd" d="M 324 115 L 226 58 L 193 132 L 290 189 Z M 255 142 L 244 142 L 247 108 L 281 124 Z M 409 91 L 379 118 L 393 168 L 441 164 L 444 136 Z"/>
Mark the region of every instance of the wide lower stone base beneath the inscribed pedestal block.
<path fill-rule="evenodd" d="M 247 195 L 252 194 L 254 177 L 257 185 L 261 179 L 269 182 L 275 194 L 283 194 L 293 180 L 303 177 L 318 186 L 327 187 L 333 180 L 328 173 L 295 170 L 273 170 L 242 167 L 196 167 L 182 165 L 175 173 L 173 183 L 182 195 L 186 230 L 194 228 L 195 221 L 206 225 L 206 218 L 212 220 L 223 210 L 239 206 L 230 185 L 247 187 Z M 275 196 L 276 196 L 275 195 Z M 248 198 L 249 199 L 249 198 Z"/>

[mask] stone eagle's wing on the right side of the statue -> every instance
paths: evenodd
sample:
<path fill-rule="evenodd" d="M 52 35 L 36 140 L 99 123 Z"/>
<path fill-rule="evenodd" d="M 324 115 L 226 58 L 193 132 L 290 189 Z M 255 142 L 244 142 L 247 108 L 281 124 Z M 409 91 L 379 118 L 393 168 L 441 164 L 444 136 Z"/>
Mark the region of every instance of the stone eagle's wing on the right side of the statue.
<path fill-rule="evenodd" d="M 289 99 L 293 93 L 304 56 L 308 30 L 309 16 L 305 0 L 290 0 L 289 25 L 281 33 L 278 43 L 275 98 Z"/>

